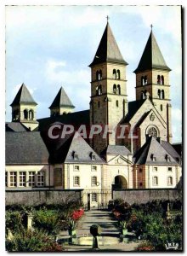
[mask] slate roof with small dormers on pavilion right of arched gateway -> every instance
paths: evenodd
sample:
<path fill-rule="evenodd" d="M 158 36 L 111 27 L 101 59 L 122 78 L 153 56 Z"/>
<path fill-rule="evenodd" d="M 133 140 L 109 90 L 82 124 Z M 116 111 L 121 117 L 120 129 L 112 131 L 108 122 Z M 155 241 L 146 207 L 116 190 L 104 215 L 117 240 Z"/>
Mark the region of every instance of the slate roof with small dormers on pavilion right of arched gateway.
<path fill-rule="evenodd" d="M 156 157 L 156 161 L 153 161 L 151 155 Z M 170 161 L 167 162 L 166 155 L 170 157 Z M 133 155 L 133 161 L 137 165 L 178 165 L 172 155 L 167 152 L 165 148 L 157 142 L 155 137 L 149 137 L 142 148 Z"/>

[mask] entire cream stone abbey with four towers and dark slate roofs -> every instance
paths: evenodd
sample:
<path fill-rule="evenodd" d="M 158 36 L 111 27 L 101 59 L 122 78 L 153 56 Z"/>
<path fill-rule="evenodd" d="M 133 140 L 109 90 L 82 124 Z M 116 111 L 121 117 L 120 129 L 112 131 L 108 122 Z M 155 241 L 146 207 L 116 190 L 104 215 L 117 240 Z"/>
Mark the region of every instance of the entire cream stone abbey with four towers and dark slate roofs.
<path fill-rule="evenodd" d="M 6 189 L 83 189 L 82 200 L 87 202 L 89 194 L 96 207 L 111 199 L 112 189 L 178 186 L 182 171 L 181 156 L 172 144 L 171 69 L 152 31 L 134 70 L 133 102 L 127 100 L 127 65 L 107 22 L 89 65 L 88 110 L 73 112 L 61 87 L 49 106 L 50 116 L 37 119 L 37 102 L 21 85 L 10 105 L 12 122 L 6 124 Z M 48 136 L 53 125 L 55 138 Z M 56 136 L 65 125 L 75 130 Z M 93 125 L 102 129 L 84 138 L 82 125 L 87 131 Z M 118 137 L 122 125 L 126 136 Z"/>

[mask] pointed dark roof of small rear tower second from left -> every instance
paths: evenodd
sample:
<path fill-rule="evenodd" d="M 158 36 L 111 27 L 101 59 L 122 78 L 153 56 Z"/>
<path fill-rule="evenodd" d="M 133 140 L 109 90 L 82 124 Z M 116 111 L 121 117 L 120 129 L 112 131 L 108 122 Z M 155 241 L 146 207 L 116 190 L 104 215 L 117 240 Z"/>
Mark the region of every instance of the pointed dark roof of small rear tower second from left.
<path fill-rule="evenodd" d="M 59 89 L 57 96 L 55 96 L 54 98 L 54 102 L 51 104 L 49 108 L 59 108 L 59 107 L 75 108 L 70 98 L 66 95 L 63 87 Z"/>

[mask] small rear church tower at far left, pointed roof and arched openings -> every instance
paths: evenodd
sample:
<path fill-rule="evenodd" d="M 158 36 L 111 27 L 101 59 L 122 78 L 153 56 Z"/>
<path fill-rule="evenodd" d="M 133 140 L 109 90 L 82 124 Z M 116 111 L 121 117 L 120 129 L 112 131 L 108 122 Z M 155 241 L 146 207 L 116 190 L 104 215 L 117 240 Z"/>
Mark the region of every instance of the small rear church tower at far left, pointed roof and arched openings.
<path fill-rule="evenodd" d="M 25 84 L 21 85 L 10 106 L 12 107 L 12 122 L 20 122 L 31 131 L 37 128 L 37 102 L 34 101 Z"/>

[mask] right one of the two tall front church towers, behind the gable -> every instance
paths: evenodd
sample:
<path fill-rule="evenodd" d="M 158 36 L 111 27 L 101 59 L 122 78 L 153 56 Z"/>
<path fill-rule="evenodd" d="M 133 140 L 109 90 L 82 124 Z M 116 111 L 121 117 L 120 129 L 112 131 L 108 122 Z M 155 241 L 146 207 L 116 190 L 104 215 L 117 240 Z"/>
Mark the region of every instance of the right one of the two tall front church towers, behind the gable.
<path fill-rule="evenodd" d="M 151 29 L 139 66 L 134 71 L 136 73 L 136 100 L 145 99 L 149 92 L 150 101 L 167 124 L 167 141 L 172 143 L 170 71 Z"/>

